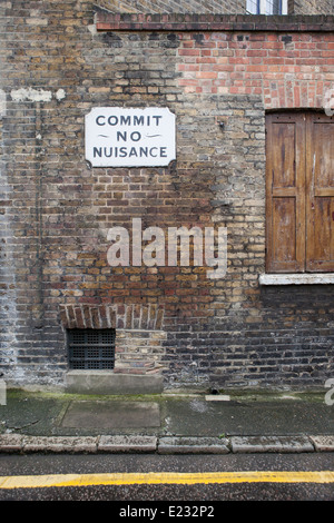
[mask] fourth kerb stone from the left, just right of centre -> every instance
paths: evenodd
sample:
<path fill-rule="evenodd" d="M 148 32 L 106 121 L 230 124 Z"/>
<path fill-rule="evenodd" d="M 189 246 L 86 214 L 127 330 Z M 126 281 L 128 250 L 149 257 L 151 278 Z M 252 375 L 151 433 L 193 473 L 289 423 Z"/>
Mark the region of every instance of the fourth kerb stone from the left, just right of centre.
<path fill-rule="evenodd" d="M 160 437 L 159 454 L 227 454 L 228 440 L 218 437 Z"/>

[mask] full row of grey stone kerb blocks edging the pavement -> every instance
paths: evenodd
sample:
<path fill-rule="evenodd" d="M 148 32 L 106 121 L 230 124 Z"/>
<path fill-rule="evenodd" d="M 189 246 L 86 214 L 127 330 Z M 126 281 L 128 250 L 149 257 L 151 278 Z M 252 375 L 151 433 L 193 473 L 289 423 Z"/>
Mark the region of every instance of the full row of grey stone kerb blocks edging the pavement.
<path fill-rule="evenodd" d="M 245 454 L 334 452 L 334 435 L 315 436 L 29 436 L 0 434 L 0 453 Z"/>

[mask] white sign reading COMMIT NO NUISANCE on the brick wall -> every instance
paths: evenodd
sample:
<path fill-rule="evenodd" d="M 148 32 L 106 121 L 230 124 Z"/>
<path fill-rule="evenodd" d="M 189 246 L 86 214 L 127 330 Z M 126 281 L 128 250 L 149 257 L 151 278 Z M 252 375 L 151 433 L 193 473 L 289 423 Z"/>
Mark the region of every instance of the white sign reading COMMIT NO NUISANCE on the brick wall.
<path fill-rule="evenodd" d="M 85 131 L 92 167 L 163 167 L 176 158 L 175 115 L 168 108 L 95 107 Z"/>

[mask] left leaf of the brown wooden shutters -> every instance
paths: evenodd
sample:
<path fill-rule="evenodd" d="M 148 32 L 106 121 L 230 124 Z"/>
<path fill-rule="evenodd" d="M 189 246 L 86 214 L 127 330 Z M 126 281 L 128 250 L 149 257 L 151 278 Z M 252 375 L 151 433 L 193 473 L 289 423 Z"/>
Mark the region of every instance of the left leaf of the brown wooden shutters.
<path fill-rule="evenodd" d="M 305 270 L 305 121 L 266 117 L 267 273 Z"/>

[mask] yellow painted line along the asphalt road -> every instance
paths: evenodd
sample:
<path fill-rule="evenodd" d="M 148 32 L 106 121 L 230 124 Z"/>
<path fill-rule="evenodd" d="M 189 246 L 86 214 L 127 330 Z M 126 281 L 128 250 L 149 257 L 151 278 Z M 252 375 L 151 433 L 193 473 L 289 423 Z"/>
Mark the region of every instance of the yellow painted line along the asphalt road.
<path fill-rule="evenodd" d="M 332 471 L 245 471 L 205 473 L 112 473 L 0 476 L 0 489 L 43 489 L 50 486 L 210 484 L 210 483 L 334 483 Z"/>

